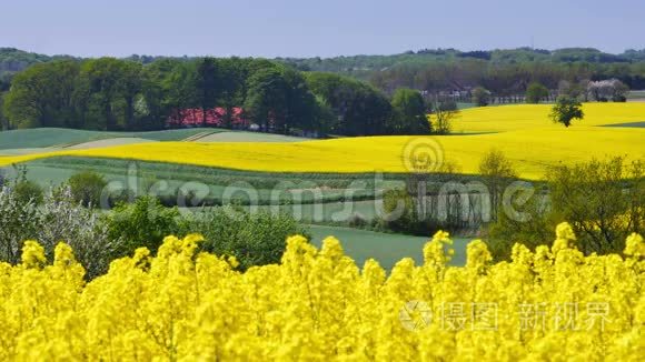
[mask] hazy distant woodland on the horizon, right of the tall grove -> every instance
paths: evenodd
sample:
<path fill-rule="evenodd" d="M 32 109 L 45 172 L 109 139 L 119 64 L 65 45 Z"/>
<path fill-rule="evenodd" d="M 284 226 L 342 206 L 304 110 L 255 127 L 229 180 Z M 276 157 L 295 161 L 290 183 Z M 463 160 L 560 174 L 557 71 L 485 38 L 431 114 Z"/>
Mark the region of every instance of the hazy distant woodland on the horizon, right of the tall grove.
<path fill-rule="evenodd" d="M 579 82 L 613 78 L 631 89 L 645 89 L 645 49 L 627 50 L 622 54 L 592 48 L 467 52 L 424 49 L 393 56 L 287 58 L 281 61 L 300 70 L 351 76 L 386 92 L 400 87 L 441 92 L 480 86 L 496 97 L 509 97 L 524 93 L 532 82 L 557 89 L 563 80 Z"/>

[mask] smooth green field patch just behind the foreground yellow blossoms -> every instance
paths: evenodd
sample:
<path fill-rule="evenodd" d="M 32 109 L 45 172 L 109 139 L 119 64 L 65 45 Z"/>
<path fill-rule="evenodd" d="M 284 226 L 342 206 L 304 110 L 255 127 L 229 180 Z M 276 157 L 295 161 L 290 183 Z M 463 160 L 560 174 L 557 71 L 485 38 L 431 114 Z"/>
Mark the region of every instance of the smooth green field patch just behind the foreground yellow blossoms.
<path fill-rule="evenodd" d="M 377 260 L 386 270 L 390 270 L 399 260 L 411 258 L 417 265 L 423 264 L 424 245 L 431 239 L 431 235 L 410 237 L 401 234 L 389 234 L 350 228 L 309 225 L 314 243 L 317 247 L 322 244 L 322 240 L 334 235 L 340 240 L 345 253 L 356 261 L 357 265 L 363 265 L 367 259 Z M 469 239 L 453 238 L 455 255 L 452 265 L 464 265 L 466 263 L 466 245 Z"/>

